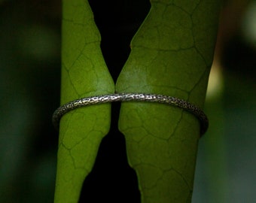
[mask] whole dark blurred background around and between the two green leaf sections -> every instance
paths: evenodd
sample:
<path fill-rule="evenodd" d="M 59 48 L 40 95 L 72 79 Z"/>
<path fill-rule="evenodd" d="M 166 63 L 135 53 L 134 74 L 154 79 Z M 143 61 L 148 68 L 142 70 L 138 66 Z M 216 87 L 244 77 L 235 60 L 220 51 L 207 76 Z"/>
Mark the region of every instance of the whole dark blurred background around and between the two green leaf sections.
<path fill-rule="evenodd" d="M 221 75 L 213 85 L 219 89 L 206 99 L 211 126 L 200 139 L 193 202 L 255 201 L 256 17 L 249 14 L 256 6 L 248 2 L 224 3 L 213 67 Z M 116 80 L 150 4 L 90 5 Z M 53 202 L 58 135 L 51 115 L 59 106 L 60 29 L 59 0 L 0 1 L 0 202 Z M 81 202 L 140 201 L 117 131 L 119 108 L 112 105 L 111 131 L 84 182 Z"/>

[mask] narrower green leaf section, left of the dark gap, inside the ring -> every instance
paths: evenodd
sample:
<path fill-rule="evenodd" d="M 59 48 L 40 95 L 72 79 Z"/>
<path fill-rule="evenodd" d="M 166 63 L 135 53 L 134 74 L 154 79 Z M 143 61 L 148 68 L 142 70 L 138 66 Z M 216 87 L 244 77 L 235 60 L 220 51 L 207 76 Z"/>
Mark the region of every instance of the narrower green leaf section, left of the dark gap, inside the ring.
<path fill-rule="evenodd" d="M 114 92 L 100 50 L 100 35 L 87 1 L 62 1 L 61 104 Z M 54 202 L 78 202 L 99 143 L 108 133 L 110 104 L 78 108 L 62 117 Z"/>

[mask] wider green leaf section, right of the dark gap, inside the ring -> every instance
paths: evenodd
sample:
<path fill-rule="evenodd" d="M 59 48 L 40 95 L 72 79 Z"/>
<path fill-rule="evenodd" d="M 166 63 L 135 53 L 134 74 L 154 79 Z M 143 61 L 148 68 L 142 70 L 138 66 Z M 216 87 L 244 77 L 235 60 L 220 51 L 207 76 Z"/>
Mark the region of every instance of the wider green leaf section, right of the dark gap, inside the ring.
<path fill-rule="evenodd" d="M 117 92 L 171 95 L 203 108 L 219 8 L 215 0 L 152 0 Z M 142 202 L 190 202 L 200 137 L 197 118 L 167 105 L 123 102 L 119 119 Z"/>

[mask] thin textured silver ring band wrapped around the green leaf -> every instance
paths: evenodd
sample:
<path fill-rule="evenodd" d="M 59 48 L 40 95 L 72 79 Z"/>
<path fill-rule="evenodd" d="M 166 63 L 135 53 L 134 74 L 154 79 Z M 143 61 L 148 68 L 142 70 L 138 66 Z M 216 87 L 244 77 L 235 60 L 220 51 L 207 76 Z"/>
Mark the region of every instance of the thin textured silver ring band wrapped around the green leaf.
<path fill-rule="evenodd" d="M 206 117 L 206 114 L 203 113 L 200 108 L 197 106 L 190 104 L 189 102 L 184 101 L 180 98 L 175 98 L 167 95 L 155 95 L 155 94 L 145 94 L 145 93 L 116 93 L 110 95 L 98 95 L 98 96 L 90 96 L 86 98 L 79 98 L 72 102 L 66 103 L 65 105 L 60 106 L 53 113 L 53 126 L 56 129 L 59 128 L 59 120 L 61 117 L 69 111 L 74 110 L 75 108 L 80 108 L 89 105 L 99 105 L 109 102 L 157 102 L 166 105 L 176 106 L 178 108 L 182 108 L 185 111 L 190 112 L 190 114 L 194 114 L 197 119 L 200 120 L 200 135 L 202 136 L 209 126 L 209 120 Z"/>

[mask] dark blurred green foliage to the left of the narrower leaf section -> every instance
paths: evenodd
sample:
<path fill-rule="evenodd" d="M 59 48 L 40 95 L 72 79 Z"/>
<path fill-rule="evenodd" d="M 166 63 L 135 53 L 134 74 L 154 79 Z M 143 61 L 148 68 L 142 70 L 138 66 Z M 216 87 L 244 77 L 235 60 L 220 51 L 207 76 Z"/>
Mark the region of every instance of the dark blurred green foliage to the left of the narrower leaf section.
<path fill-rule="evenodd" d="M 53 199 L 57 137 L 50 117 L 59 103 L 60 23 L 46 13 L 50 4 L 33 5 L 0 7 L 1 202 Z"/>

